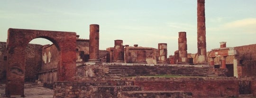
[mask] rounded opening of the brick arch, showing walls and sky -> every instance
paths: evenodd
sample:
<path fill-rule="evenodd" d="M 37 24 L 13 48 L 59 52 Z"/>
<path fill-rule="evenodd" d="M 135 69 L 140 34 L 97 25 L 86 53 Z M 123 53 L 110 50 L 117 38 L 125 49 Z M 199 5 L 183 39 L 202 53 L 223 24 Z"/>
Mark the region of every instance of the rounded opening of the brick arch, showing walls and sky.
<path fill-rule="evenodd" d="M 58 48 L 46 38 L 35 38 L 26 47 L 25 82 L 52 84 L 57 81 Z"/>

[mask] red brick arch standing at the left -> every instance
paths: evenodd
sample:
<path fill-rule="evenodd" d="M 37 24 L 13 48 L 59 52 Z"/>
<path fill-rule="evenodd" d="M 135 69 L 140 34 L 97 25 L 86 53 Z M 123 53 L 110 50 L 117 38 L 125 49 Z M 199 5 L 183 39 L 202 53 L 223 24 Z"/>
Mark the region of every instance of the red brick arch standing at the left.
<path fill-rule="evenodd" d="M 76 60 L 76 33 L 9 28 L 6 96 L 24 96 L 25 48 L 35 38 L 53 42 L 60 51 L 57 80 L 73 81 Z"/>

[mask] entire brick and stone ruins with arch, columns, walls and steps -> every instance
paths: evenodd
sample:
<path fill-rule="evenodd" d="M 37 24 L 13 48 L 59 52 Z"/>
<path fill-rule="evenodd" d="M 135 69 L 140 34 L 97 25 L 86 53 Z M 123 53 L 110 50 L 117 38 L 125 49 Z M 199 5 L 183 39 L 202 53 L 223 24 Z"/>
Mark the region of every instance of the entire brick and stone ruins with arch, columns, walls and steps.
<path fill-rule="evenodd" d="M 113 39 L 99 50 L 97 24 L 89 26 L 89 39 L 75 32 L 9 28 L 7 42 L 0 42 L 4 96 L 25 97 L 25 83 L 36 82 L 53 89 L 53 98 L 255 97 L 256 44 L 220 42 L 207 52 L 204 3 L 197 0 L 198 53 L 187 53 L 186 32 L 177 32 L 178 49 L 167 56 L 166 43 L 153 48 Z M 35 38 L 53 44 L 29 44 Z"/>

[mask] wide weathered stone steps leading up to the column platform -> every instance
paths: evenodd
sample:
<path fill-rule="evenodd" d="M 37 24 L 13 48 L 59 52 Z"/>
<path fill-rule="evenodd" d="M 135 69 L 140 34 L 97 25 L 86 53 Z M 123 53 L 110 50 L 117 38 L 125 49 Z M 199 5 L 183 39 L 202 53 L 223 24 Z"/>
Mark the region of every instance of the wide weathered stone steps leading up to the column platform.
<path fill-rule="evenodd" d="M 181 76 L 217 76 L 210 67 L 194 66 L 142 66 L 142 65 L 109 65 L 109 76 L 151 76 L 151 75 L 181 75 Z"/>

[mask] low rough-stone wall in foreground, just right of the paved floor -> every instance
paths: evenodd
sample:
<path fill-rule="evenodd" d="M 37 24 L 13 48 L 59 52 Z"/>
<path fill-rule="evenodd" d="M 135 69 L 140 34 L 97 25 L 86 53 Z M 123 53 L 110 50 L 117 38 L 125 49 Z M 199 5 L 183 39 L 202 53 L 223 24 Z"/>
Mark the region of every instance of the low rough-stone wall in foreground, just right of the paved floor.
<path fill-rule="evenodd" d="M 140 90 L 143 87 L 113 86 L 110 82 L 55 82 L 54 98 L 118 98 L 122 91 Z"/>

